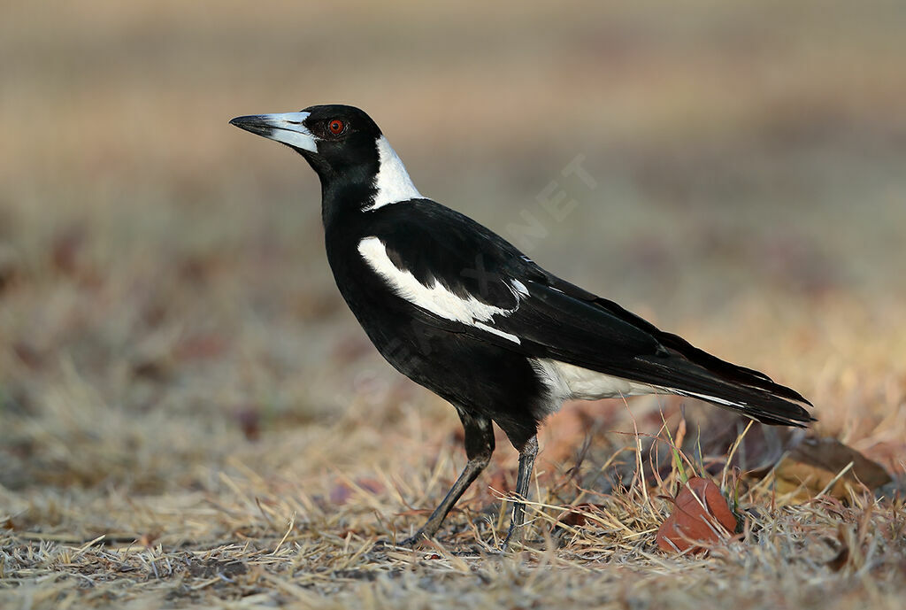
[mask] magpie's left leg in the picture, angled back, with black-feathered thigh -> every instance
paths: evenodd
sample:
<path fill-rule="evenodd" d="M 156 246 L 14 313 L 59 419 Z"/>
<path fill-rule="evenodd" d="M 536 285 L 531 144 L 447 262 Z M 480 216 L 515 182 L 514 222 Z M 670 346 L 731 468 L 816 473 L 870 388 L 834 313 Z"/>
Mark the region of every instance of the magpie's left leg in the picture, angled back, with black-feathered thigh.
<path fill-rule="evenodd" d="M 457 410 L 459 411 L 459 410 Z M 462 420 L 465 434 L 466 457 L 468 461 L 466 468 L 459 474 L 459 478 L 453 483 L 453 487 L 447 492 L 447 495 L 440 501 L 438 508 L 434 509 L 428 522 L 425 523 L 419 531 L 412 537 L 408 537 L 400 545 L 412 547 L 421 540 L 433 537 L 438 533 L 440 524 L 443 523 L 447 513 L 457 503 L 457 500 L 477 479 L 482 470 L 485 470 L 487 462 L 491 460 L 491 454 L 494 452 L 494 428 L 491 421 L 487 418 L 473 417 L 468 413 L 459 411 L 459 419 Z"/>

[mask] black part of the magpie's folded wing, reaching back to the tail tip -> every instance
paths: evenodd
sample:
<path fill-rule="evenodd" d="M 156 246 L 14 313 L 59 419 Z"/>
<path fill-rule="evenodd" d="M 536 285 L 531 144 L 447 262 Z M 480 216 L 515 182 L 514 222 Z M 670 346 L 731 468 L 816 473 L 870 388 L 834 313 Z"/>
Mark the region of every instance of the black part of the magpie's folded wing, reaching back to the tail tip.
<path fill-rule="evenodd" d="M 419 283 L 437 282 L 461 298 L 506 310 L 487 322 L 499 333 L 417 310 L 427 324 L 529 357 L 694 396 L 765 423 L 813 420 L 799 404 L 810 403 L 798 392 L 546 272 L 503 237 L 454 210 L 427 199 L 398 203 L 375 210 L 370 228 L 394 265 Z"/>

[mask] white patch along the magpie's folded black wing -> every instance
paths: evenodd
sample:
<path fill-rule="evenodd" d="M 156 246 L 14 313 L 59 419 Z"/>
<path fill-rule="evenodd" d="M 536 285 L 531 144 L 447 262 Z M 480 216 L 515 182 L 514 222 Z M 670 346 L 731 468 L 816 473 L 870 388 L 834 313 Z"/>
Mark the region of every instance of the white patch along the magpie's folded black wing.
<path fill-rule="evenodd" d="M 510 315 L 516 311 L 516 308 L 504 309 L 494 305 L 487 305 L 487 303 L 482 303 L 474 296 L 469 296 L 468 298 L 459 297 L 437 281 L 432 286 L 425 286 L 410 271 L 402 271 L 393 264 L 393 261 L 387 255 L 387 247 L 383 245 L 378 237 L 365 237 L 362 239 L 359 242 L 359 254 L 365 259 L 368 266 L 390 285 L 397 295 L 400 295 L 412 305 L 421 307 L 447 320 L 469 324 L 488 333 L 504 337 L 507 341 L 521 344 L 519 337 L 515 334 L 505 333 L 487 324 L 492 321 L 495 315 Z M 519 282 L 518 285 L 522 286 L 522 283 Z M 516 283 L 510 286 L 510 289 L 517 298 L 518 295 L 528 294 L 525 286 L 522 286 L 520 290 Z M 525 290 L 525 293 L 523 290 Z"/>

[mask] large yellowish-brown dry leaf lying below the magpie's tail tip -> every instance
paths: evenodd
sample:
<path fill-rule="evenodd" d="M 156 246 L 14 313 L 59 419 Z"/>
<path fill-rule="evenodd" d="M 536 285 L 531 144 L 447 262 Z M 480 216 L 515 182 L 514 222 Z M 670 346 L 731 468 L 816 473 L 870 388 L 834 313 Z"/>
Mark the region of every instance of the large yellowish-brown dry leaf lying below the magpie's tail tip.
<path fill-rule="evenodd" d="M 777 495 L 792 494 L 794 501 L 814 498 L 823 491 L 845 500 L 852 491 L 877 489 L 891 481 L 878 463 L 836 439 L 803 440 L 780 460 L 775 476 Z"/>

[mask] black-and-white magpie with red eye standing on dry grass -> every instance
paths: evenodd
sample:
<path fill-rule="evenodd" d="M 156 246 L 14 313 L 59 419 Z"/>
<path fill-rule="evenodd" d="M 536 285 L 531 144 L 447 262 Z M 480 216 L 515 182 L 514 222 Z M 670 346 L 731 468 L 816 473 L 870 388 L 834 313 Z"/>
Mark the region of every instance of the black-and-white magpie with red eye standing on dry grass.
<path fill-rule="evenodd" d="M 766 424 L 814 421 L 799 392 L 554 276 L 491 229 L 423 197 L 364 111 L 325 104 L 229 122 L 308 162 L 321 182 L 327 260 L 352 314 L 397 371 L 458 412 L 466 466 L 401 544 L 437 535 L 487 467 L 494 425 L 519 453 L 503 547 L 521 543 L 537 432 L 566 400 L 677 394 Z"/>

